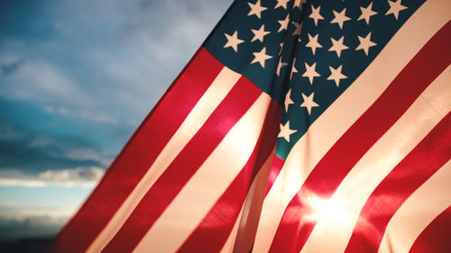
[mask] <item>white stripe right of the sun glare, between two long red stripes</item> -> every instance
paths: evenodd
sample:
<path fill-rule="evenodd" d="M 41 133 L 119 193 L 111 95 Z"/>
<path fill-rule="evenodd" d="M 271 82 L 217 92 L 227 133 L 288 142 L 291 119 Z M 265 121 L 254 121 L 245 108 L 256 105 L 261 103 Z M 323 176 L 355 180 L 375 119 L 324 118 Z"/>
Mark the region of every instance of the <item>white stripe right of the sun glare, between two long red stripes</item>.
<path fill-rule="evenodd" d="M 330 212 L 323 211 L 302 253 L 345 251 L 364 203 L 373 190 L 451 110 L 451 93 L 446 92 L 450 80 L 451 67 L 448 67 L 366 152 L 345 176 L 333 197 L 324 200 Z M 437 101 L 445 103 L 437 107 Z"/>

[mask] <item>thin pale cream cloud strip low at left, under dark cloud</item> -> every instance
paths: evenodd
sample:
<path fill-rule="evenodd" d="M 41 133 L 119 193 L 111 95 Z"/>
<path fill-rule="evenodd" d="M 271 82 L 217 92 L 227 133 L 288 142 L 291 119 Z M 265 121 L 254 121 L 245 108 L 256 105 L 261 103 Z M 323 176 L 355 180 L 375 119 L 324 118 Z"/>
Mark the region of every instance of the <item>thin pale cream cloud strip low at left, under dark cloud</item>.
<path fill-rule="evenodd" d="M 93 187 L 103 176 L 100 167 L 76 167 L 58 170 L 46 170 L 37 175 L 26 175 L 17 170 L 0 172 L 0 186 L 23 187 Z"/>

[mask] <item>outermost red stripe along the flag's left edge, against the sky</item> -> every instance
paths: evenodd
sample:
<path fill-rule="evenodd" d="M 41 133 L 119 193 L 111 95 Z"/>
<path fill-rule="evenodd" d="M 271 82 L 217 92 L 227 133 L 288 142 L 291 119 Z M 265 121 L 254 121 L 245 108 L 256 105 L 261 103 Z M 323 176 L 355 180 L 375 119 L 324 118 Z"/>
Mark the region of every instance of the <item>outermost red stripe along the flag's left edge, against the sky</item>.
<path fill-rule="evenodd" d="M 96 190 L 60 231 L 50 251 L 87 249 L 223 67 L 207 50 L 198 50 L 106 170 Z"/>

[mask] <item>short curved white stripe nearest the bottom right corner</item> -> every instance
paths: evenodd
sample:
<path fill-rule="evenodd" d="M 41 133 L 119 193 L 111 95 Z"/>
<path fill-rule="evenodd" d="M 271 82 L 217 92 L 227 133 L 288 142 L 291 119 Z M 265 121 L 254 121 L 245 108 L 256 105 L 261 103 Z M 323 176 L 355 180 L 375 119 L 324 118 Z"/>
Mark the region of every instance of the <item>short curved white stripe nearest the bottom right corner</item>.
<path fill-rule="evenodd" d="M 379 253 L 408 253 L 438 214 L 451 205 L 451 161 L 441 167 L 428 181 L 400 206 L 383 235 Z"/>

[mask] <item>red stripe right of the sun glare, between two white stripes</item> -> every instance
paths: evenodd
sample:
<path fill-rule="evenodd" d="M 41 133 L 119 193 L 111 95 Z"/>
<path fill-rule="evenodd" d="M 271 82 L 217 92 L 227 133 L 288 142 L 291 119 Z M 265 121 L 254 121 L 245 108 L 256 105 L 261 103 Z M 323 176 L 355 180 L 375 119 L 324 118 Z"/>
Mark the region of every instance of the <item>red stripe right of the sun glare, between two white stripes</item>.
<path fill-rule="evenodd" d="M 451 158 L 451 113 L 391 170 L 360 213 L 345 253 L 377 252 L 388 222 L 400 205 Z"/>

